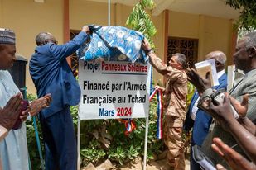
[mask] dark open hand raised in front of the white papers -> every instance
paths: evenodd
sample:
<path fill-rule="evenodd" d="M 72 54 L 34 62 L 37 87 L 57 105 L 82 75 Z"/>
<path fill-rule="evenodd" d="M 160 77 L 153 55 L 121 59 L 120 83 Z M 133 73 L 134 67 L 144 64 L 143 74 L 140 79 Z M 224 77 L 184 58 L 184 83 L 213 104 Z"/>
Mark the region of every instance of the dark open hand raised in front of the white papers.
<path fill-rule="evenodd" d="M 187 79 L 190 81 L 197 89 L 199 94 L 205 92 L 206 89 L 211 88 L 210 86 L 210 72 L 206 73 L 205 78 L 201 78 L 196 72 L 195 68 L 189 68 L 186 71 Z"/>

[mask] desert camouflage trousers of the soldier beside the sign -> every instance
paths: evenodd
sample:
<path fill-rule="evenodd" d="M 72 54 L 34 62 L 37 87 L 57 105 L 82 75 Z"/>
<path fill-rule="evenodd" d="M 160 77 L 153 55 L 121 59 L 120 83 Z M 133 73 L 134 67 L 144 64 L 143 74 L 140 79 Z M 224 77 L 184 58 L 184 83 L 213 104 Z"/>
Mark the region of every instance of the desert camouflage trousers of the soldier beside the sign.
<path fill-rule="evenodd" d="M 163 140 L 167 145 L 167 159 L 174 170 L 185 169 L 184 145 L 181 139 L 183 121 L 176 116 L 165 116 Z M 178 122 L 178 124 L 177 124 Z"/>

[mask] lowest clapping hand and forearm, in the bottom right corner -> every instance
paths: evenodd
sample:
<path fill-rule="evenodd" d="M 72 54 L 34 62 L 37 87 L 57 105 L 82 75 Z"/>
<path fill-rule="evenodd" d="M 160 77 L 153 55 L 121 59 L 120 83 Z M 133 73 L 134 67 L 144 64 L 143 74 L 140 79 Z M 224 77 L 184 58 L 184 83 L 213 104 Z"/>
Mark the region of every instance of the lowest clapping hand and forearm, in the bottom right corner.
<path fill-rule="evenodd" d="M 220 157 L 225 158 L 229 163 L 230 168 L 233 170 L 255 170 L 256 166 L 254 163 L 249 162 L 242 155 L 237 153 L 234 149 L 230 148 L 227 144 L 223 143 L 219 138 L 213 139 L 213 144 L 211 148 L 220 155 Z M 225 170 L 225 168 L 217 164 L 218 170 Z"/>

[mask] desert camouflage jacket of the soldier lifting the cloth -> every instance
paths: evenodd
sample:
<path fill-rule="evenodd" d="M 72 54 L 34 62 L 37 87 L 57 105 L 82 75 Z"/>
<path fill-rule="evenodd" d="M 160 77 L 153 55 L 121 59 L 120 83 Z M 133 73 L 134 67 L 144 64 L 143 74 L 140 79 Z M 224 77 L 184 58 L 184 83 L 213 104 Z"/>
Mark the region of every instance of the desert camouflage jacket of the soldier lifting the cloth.
<path fill-rule="evenodd" d="M 164 72 L 167 78 L 164 92 L 163 110 L 166 116 L 176 116 L 173 127 L 182 127 L 186 117 L 187 76 L 185 70 L 178 70 L 162 64 L 159 58 L 152 58 L 150 62 L 157 70 Z"/>

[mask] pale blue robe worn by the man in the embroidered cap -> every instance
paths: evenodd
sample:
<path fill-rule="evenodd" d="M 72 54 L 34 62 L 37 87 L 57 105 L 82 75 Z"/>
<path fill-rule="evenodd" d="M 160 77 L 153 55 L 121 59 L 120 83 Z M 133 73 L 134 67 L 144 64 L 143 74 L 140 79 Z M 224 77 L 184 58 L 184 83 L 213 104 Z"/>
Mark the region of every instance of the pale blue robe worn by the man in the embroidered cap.
<path fill-rule="evenodd" d="M 13 82 L 10 73 L 0 70 L 0 106 L 5 106 L 9 99 L 18 92 L 20 91 Z M 2 139 L 0 158 L 2 170 L 29 169 L 25 123 L 22 124 L 21 129 L 10 130 L 8 135 Z"/>

